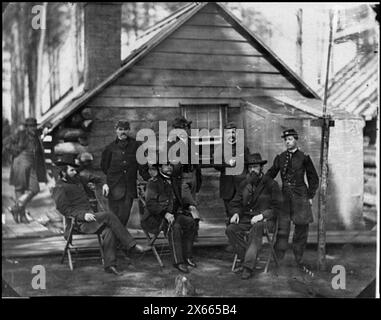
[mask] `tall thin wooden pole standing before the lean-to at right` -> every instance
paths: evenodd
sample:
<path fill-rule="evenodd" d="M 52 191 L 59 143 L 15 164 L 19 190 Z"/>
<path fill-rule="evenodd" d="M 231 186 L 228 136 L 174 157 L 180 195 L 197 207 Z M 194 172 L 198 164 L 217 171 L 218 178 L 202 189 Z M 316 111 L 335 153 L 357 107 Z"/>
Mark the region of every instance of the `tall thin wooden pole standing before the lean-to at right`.
<path fill-rule="evenodd" d="M 326 217 L 327 217 L 327 187 L 328 187 L 328 147 L 329 147 L 329 131 L 330 126 L 334 125 L 331 116 L 327 113 L 328 101 L 328 82 L 329 69 L 331 63 L 331 52 L 333 43 L 333 20 L 335 11 L 329 12 L 329 42 L 328 42 L 328 58 L 327 70 L 325 76 L 324 100 L 323 100 L 323 116 L 321 121 L 321 149 L 320 149 L 320 173 L 321 184 L 319 192 L 319 212 L 318 212 L 318 270 L 326 269 Z"/>

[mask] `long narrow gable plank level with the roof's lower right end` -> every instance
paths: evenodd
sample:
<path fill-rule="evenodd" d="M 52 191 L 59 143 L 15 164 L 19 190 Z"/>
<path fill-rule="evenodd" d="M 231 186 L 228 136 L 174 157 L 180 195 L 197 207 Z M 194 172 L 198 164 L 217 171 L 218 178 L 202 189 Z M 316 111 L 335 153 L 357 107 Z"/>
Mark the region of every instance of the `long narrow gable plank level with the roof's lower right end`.
<path fill-rule="evenodd" d="M 102 92 L 100 97 L 119 98 L 252 98 L 264 95 L 285 94 L 280 89 L 237 87 L 181 87 L 181 86 L 122 86 L 114 85 Z"/>

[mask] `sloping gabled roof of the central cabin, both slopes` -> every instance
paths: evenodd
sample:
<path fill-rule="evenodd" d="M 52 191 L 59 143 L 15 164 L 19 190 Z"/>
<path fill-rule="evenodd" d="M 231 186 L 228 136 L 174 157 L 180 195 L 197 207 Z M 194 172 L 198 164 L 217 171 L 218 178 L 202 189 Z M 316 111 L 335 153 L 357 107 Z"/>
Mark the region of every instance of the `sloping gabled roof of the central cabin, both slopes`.
<path fill-rule="evenodd" d="M 292 82 L 298 91 L 305 97 L 320 100 L 319 95 L 314 92 L 293 70 L 291 70 L 269 47 L 267 47 L 253 32 L 246 28 L 241 21 L 236 18 L 225 6 L 220 3 L 194 2 L 187 4 L 168 18 L 160 21 L 155 26 L 146 30 L 146 32 L 137 39 L 136 43 L 130 47 L 130 53 L 122 61 L 122 66 L 102 81 L 95 88 L 85 92 L 83 87 L 78 88 L 66 99 L 53 106 L 46 114 L 39 119 L 41 126 L 45 123 L 51 123 L 53 129 L 63 120 L 83 106 L 91 98 L 99 94 L 103 89 L 109 86 L 113 81 L 127 72 L 137 61 L 147 55 L 153 48 L 164 41 L 168 36 L 181 27 L 187 20 L 193 17 L 205 6 L 213 4 L 217 7 L 219 13 L 232 24 L 236 30 L 246 37 L 258 51 L 261 51 L 269 62 L 271 62 L 287 79 Z"/>

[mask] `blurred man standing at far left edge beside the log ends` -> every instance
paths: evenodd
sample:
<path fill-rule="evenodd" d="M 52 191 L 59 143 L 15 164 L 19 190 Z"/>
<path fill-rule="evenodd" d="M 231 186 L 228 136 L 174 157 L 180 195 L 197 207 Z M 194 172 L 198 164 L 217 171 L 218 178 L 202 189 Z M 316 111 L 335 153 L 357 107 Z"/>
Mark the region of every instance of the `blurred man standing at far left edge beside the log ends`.
<path fill-rule="evenodd" d="M 3 152 L 12 155 L 10 184 L 15 187 L 16 203 L 8 208 L 16 223 L 29 223 L 25 208 L 40 192 L 39 182 L 47 182 L 44 148 L 37 120 L 27 118 L 23 130 L 10 137 Z M 45 135 L 47 131 L 44 131 Z M 43 136 L 42 136 L 43 137 Z"/>

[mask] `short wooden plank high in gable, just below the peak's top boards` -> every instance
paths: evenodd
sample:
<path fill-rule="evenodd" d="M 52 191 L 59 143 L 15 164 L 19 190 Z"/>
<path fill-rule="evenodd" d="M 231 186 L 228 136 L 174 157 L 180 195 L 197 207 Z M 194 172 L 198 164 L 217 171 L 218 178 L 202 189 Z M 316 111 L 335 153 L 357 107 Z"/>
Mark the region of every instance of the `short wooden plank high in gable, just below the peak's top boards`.
<path fill-rule="evenodd" d="M 247 41 L 231 26 L 182 26 L 180 29 L 171 34 L 170 39 L 203 39 L 241 42 Z"/>

